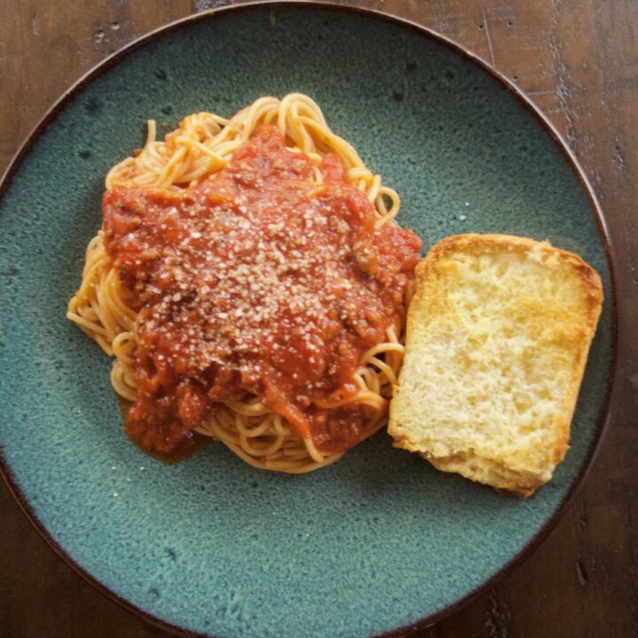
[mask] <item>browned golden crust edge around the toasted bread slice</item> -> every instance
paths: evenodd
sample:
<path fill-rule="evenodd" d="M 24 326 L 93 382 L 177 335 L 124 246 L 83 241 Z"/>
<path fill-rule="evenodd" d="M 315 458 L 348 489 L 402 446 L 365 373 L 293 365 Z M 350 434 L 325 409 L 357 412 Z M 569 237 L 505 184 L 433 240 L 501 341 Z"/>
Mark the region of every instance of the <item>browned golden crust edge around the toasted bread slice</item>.
<path fill-rule="evenodd" d="M 411 366 L 406 366 L 405 363 L 398 385 L 394 388 L 388 431 L 394 438 L 395 447 L 423 455 L 441 471 L 457 472 L 466 478 L 526 497 L 551 478 L 556 464 L 563 460 L 568 449 L 573 411 L 587 363 L 589 346 L 595 334 L 603 303 L 603 285 L 595 269 L 591 268 L 579 255 L 556 248 L 547 241 L 538 242 L 528 237 L 495 234 L 446 237 L 432 246 L 416 267 L 416 293 L 408 309 L 406 362 L 419 346 L 419 339 L 427 338 L 428 328 L 424 328 L 424 325 L 427 325 L 432 317 L 449 313 L 446 301 L 447 290 L 442 289 L 449 283 L 443 282 L 440 274 L 441 265 L 452 268 L 455 259 L 467 255 L 489 257 L 505 253 L 520 255 L 524 261 L 539 261 L 544 267 L 552 270 L 562 269 L 561 272 L 564 271 L 564 277 L 569 278 L 570 285 L 580 289 L 579 299 L 582 303 L 579 303 L 577 308 L 578 316 L 569 317 L 567 321 L 564 317 L 558 316 L 556 320 L 559 326 L 566 324 L 571 327 L 566 337 L 564 331 L 559 334 L 559 337 L 568 340 L 568 352 L 573 354 L 573 359 L 570 365 L 571 370 L 567 370 L 570 373 L 569 381 L 564 382 L 567 386 L 564 388 L 562 405 L 552 422 L 554 428 L 552 447 L 528 451 L 529 455 L 545 454 L 547 462 L 544 466 L 542 463 L 534 465 L 525 455 L 516 460 L 488 455 L 485 451 L 473 449 L 471 441 L 467 442 L 467 447 L 447 449 L 441 443 L 442 437 L 441 440 L 436 440 L 432 432 L 427 440 L 420 437 L 418 417 L 415 415 L 414 408 L 418 397 L 413 396 L 410 380 L 404 376 L 404 372 L 408 374 L 406 370 L 411 369 Z M 535 320 L 546 322 L 549 326 L 554 321 L 552 313 L 561 311 L 560 307 L 534 305 L 534 300 L 526 300 L 523 295 L 521 295 L 520 304 L 521 307 L 528 304 L 529 312 L 533 314 Z M 417 332 L 420 334 L 419 337 L 416 337 Z M 445 362 L 442 364 L 445 365 Z M 432 397 L 426 397 L 426 399 L 432 399 Z M 427 409 L 427 406 L 424 406 L 424 409 Z"/>

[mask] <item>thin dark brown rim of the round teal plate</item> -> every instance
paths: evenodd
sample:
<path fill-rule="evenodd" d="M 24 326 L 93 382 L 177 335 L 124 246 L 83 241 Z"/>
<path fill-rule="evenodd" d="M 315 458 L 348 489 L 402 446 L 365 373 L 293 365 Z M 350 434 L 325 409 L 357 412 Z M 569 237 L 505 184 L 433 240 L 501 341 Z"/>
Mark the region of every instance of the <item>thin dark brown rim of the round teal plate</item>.
<path fill-rule="evenodd" d="M 510 574 L 517 568 L 528 556 L 533 553 L 534 549 L 537 549 L 542 541 L 549 536 L 549 533 L 556 527 L 558 521 L 563 517 L 564 510 L 569 502 L 572 501 L 574 494 L 582 485 L 584 479 L 587 477 L 589 471 L 591 471 L 595 458 L 600 451 L 601 443 L 603 442 L 605 432 L 609 426 L 611 420 L 611 395 L 614 388 L 617 386 L 616 380 L 619 374 L 619 303 L 618 303 L 618 276 L 616 272 L 615 253 L 611 244 L 611 236 L 609 228 L 603 213 L 603 208 L 600 205 L 598 197 L 595 194 L 594 187 L 589 181 L 587 174 L 583 167 L 580 166 L 580 161 L 577 159 L 572 148 L 569 146 L 564 136 L 556 128 L 556 126 L 549 120 L 549 117 L 541 110 L 541 108 L 533 102 L 533 99 L 529 97 L 523 89 L 520 89 L 517 84 L 510 80 L 501 71 L 498 71 L 494 66 L 486 61 L 485 58 L 478 56 L 476 53 L 465 48 L 462 44 L 455 42 L 447 35 L 440 34 L 438 31 L 431 27 L 426 27 L 414 20 L 403 18 L 390 12 L 383 12 L 377 9 L 371 9 L 362 6 L 353 6 L 350 4 L 340 4 L 338 0 L 249 0 L 244 4 L 229 4 L 221 7 L 214 7 L 205 12 L 191 13 L 181 19 L 176 19 L 168 22 L 161 27 L 157 27 L 148 33 L 141 35 L 128 44 L 125 44 L 118 51 L 114 51 L 111 55 L 102 59 L 95 66 L 92 66 L 87 72 L 82 74 L 75 82 L 73 82 L 64 93 L 58 97 L 57 100 L 50 105 L 43 117 L 35 124 L 35 127 L 27 135 L 24 142 L 20 144 L 19 149 L 13 155 L 9 165 L 4 170 L 4 174 L 0 177 L 0 200 L 4 198 L 7 191 L 11 187 L 14 178 L 19 173 L 19 168 L 22 166 L 23 161 L 27 158 L 28 153 L 32 150 L 35 144 L 38 142 L 43 132 L 56 120 L 58 114 L 71 102 L 75 95 L 88 86 L 91 82 L 96 80 L 102 74 L 105 74 L 108 70 L 117 66 L 121 60 L 127 58 L 134 51 L 143 48 L 148 43 L 152 43 L 158 40 L 163 35 L 176 31 L 180 28 L 187 27 L 199 21 L 206 19 L 216 19 L 217 17 L 225 13 L 239 13 L 250 12 L 255 9 L 266 9 L 269 11 L 286 10 L 289 8 L 294 9 L 311 9 L 311 10 L 332 10 L 338 12 L 345 12 L 350 14 L 361 14 L 373 19 L 389 22 L 399 27 L 406 28 L 417 35 L 421 35 L 432 41 L 442 44 L 456 53 L 461 54 L 463 58 L 470 61 L 474 65 L 486 73 L 492 75 L 494 79 L 502 83 L 502 86 L 510 91 L 510 94 L 517 97 L 518 103 L 522 105 L 525 110 L 530 113 L 536 121 L 541 124 L 545 132 L 549 134 L 558 150 L 562 153 L 567 164 L 571 167 L 572 173 L 576 176 L 580 182 L 580 187 L 587 195 L 587 202 L 589 209 L 594 217 L 598 234 L 603 242 L 603 249 L 605 253 L 605 260 L 607 262 L 607 268 L 610 272 L 610 291 L 606 291 L 607 301 L 610 303 L 611 310 L 611 359 L 610 370 L 607 378 L 607 385 L 603 397 L 602 405 L 598 411 L 596 417 L 594 438 L 587 447 L 587 453 L 583 462 L 580 465 L 579 471 L 572 479 L 572 483 L 565 492 L 563 498 L 556 506 L 556 509 L 552 512 L 551 516 L 545 521 L 541 528 L 533 535 L 533 537 L 517 551 L 517 553 L 510 558 L 510 560 L 503 564 L 501 569 L 494 572 L 489 578 L 481 582 L 477 587 L 474 587 L 461 598 L 454 603 L 447 604 L 439 611 L 435 611 L 428 616 L 424 616 L 421 619 L 416 620 L 414 623 L 397 627 L 383 634 L 371 635 L 369 638 L 401 638 L 408 634 L 413 634 L 416 631 L 424 630 L 425 628 L 435 625 L 443 619 L 454 614 L 456 611 L 461 610 L 467 604 L 478 598 L 478 595 L 483 594 L 488 587 L 494 587 L 494 585 L 502 580 L 506 575 Z M 95 587 L 101 594 L 107 596 L 115 603 L 120 604 L 124 609 L 132 611 L 141 619 L 151 623 L 154 626 L 158 626 L 167 632 L 175 634 L 177 636 L 183 636 L 183 638 L 222 638 L 222 636 L 216 637 L 213 634 L 200 634 L 198 632 L 186 629 L 182 626 L 173 625 L 167 620 L 160 619 L 158 616 L 153 615 L 149 611 L 145 611 L 136 604 L 131 603 L 128 599 L 116 594 L 112 589 L 107 587 L 103 582 L 97 580 L 97 577 L 85 570 L 80 564 L 78 564 L 73 556 L 70 556 L 63 549 L 57 541 L 55 541 L 42 521 L 37 516 L 32 504 L 28 501 L 27 495 L 23 494 L 18 481 L 13 476 L 12 468 L 8 460 L 4 456 L 4 446 L 0 443 L 0 475 L 4 478 L 4 483 L 9 489 L 15 501 L 18 503 L 19 509 L 22 510 L 27 520 L 34 526 L 35 531 L 40 534 L 44 541 L 53 549 L 53 551 L 69 566 L 75 573 L 87 581 L 91 586 Z"/>

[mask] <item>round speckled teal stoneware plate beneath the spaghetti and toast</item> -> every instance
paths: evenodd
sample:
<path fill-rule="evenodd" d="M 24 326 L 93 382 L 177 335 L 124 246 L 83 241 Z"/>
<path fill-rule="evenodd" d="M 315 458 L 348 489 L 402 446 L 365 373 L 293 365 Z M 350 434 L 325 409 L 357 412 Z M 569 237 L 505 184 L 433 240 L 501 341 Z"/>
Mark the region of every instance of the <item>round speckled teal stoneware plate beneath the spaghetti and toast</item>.
<path fill-rule="evenodd" d="M 105 173 L 143 144 L 148 118 L 168 130 L 292 91 L 401 194 L 400 222 L 426 247 L 469 231 L 548 238 L 603 277 L 572 448 L 533 498 L 437 472 L 385 432 L 303 476 L 255 470 L 220 444 L 167 466 L 123 434 L 110 361 L 65 319 Z M 0 209 L 5 478 L 78 572 L 175 632 L 353 638 L 432 623 L 541 539 L 600 440 L 615 310 L 595 198 L 513 85 L 423 28 L 298 3 L 167 27 L 53 108 Z"/>

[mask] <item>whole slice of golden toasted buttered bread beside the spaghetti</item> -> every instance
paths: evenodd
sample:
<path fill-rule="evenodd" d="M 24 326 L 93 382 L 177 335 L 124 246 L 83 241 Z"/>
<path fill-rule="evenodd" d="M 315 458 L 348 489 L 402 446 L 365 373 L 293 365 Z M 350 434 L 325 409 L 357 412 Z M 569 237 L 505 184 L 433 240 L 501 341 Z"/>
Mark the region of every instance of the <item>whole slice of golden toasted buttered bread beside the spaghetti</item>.
<path fill-rule="evenodd" d="M 602 302 L 595 270 L 548 242 L 441 240 L 416 268 L 390 406 L 394 445 L 533 494 L 567 450 Z"/>

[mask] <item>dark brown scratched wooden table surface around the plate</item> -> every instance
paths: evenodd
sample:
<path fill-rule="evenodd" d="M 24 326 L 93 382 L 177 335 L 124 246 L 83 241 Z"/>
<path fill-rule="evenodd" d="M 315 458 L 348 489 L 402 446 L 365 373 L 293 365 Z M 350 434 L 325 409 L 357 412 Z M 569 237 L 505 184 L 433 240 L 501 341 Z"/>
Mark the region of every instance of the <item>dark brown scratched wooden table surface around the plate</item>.
<path fill-rule="evenodd" d="M 0 170 L 91 66 L 220 0 L 0 0 Z M 619 377 L 593 471 L 541 546 L 423 638 L 638 636 L 638 2 L 360 0 L 448 35 L 549 115 L 600 198 L 617 255 Z M 0 638 L 159 638 L 75 574 L 0 481 Z M 305 638 L 301 637 L 300 638 Z"/>

